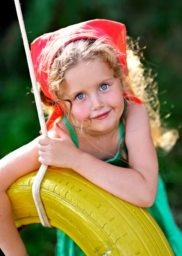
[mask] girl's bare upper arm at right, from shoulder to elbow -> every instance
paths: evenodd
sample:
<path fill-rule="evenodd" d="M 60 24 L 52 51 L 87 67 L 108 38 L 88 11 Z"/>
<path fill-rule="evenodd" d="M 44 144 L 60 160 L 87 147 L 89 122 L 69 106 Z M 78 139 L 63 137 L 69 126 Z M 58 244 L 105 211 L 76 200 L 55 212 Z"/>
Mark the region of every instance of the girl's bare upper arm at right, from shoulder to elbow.
<path fill-rule="evenodd" d="M 128 148 L 130 168 L 139 171 L 146 179 L 153 180 L 150 175 L 154 175 L 156 183 L 158 160 L 148 113 L 144 105 L 134 103 L 127 106 L 125 143 Z"/>

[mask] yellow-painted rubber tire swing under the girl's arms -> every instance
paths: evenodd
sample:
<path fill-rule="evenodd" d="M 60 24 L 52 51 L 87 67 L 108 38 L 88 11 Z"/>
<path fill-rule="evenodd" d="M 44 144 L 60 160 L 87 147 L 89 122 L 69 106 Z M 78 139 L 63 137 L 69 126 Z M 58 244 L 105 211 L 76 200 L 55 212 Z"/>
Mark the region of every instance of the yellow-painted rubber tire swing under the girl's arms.
<path fill-rule="evenodd" d="M 19 178 L 7 191 L 17 227 L 40 223 L 31 192 L 36 174 Z M 118 199 L 70 169 L 48 168 L 40 194 L 50 224 L 87 256 L 174 256 L 146 209 Z"/>

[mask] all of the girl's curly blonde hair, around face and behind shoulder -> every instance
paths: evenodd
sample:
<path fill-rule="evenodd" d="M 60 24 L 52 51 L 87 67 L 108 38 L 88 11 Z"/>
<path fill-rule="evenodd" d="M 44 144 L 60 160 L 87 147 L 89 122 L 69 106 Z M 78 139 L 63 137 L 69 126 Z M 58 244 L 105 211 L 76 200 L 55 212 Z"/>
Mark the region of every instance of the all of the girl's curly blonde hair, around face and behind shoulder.
<path fill-rule="evenodd" d="M 65 45 L 65 47 L 58 52 L 53 61 L 48 79 L 50 90 L 54 92 L 54 96 L 63 108 L 64 114 L 68 116 L 69 121 L 74 125 L 75 122 L 71 112 L 71 101 L 65 99 L 64 81 L 66 72 L 85 60 L 99 59 L 104 63 L 108 63 L 108 66 L 114 71 L 114 76 L 120 80 L 122 92 L 126 90 L 131 92 L 137 96 L 137 98 L 142 100 L 143 104 L 146 106 L 155 147 L 162 148 L 165 151 L 171 150 L 178 138 L 178 132 L 174 129 L 169 130 L 165 128 L 161 123 L 159 100 L 157 97 L 157 83 L 154 81 L 154 77 L 151 76 L 151 70 L 146 70 L 140 61 L 143 56 L 142 52 L 139 51 L 138 41 L 133 42 L 131 38 L 127 37 L 127 76 L 123 72 L 124 67 L 122 67 L 118 61 L 118 56 L 121 54 L 122 53 L 118 52 L 118 50 L 109 42 L 104 43 L 103 38 L 97 40 L 81 39 Z M 51 114 L 56 103 L 46 98 L 42 92 L 40 93 L 43 104 L 49 106 L 49 108 L 45 108 L 45 112 Z M 124 101 L 127 102 L 127 104 L 134 103 L 125 97 Z M 70 103 L 69 108 L 67 107 L 68 104 L 66 105 L 66 102 Z M 49 112 L 48 109 L 50 110 Z M 80 129 L 80 133 L 83 135 L 84 128 L 89 126 L 90 121 L 84 120 L 80 127 L 76 126 L 75 128 Z M 122 122 L 125 125 L 123 116 Z M 120 147 L 120 153 L 124 159 L 127 160 L 125 152 L 122 151 L 123 144 L 124 140 Z"/>

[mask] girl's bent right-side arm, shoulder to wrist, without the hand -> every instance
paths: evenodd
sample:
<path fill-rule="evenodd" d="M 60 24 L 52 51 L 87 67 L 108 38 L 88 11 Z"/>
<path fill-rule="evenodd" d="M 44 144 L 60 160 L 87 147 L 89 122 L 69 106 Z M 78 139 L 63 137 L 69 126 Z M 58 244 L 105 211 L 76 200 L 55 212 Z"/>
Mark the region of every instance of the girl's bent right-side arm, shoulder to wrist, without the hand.
<path fill-rule="evenodd" d="M 125 143 L 130 169 L 112 166 L 80 152 L 74 170 L 92 183 L 139 207 L 154 204 L 158 187 L 158 161 L 145 106 L 128 106 Z"/>

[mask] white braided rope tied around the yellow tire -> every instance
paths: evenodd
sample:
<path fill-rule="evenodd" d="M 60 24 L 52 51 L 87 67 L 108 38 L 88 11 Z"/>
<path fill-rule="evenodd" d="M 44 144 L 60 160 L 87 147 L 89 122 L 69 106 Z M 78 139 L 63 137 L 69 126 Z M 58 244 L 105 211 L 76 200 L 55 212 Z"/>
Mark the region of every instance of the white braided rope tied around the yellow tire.
<path fill-rule="evenodd" d="M 24 44 L 24 47 L 25 47 L 25 52 L 26 52 L 26 58 L 27 58 L 27 62 L 28 62 L 28 68 L 29 68 L 31 83 L 32 83 L 32 87 L 33 87 L 33 90 L 34 90 L 34 97 L 35 97 L 35 103 L 36 103 L 39 122 L 40 122 L 40 128 L 41 128 L 42 134 L 44 136 L 48 136 L 48 132 L 47 132 L 47 128 L 46 128 L 46 122 L 45 122 L 44 113 L 43 113 L 43 107 L 42 107 L 42 104 L 41 104 L 39 89 L 38 89 L 38 86 L 37 86 L 37 80 L 36 80 L 35 73 L 34 73 L 34 66 L 33 66 L 32 59 L 31 59 L 30 48 L 29 48 L 28 39 L 27 39 L 27 35 L 26 35 L 26 30 L 25 30 L 25 25 L 24 25 L 24 21 L 23 21 L 23 15 L 22 15 L 22 12 L 21 12 L 20 1 L 19 0 L 14 0 L 14 3 L 15 3 L 15 6 L 16 6 L 18 21 L 19 21 L 19 24 L 20 24 L 20 30 L 21 30 L 21 34 L 22 34 L 22 38 L 23 38 L 23 44 Z M 40 166 L 40 169 L 39 169 L 39 171 L 38 171 L 38 173 L 35 177 L 35 180 L 34 180 L 34 183 L 33 183 L 33 186 L 32 186 L 32 194 L 33 194 L 34 202 L 35 202 L 37 212 L 39 214 L 39 218 L 40 218 L 40 221 L 41 221 L 42 225 L 44 227 L 51 227 L 51 225 L 49 224 L 49 221 L 48 221 L 48 217 L 46 215 L 46 211 L 45 211 L 44 206 L 43 206 L 43 202 L 40 198 L 40 184 L 43 180 L 43 177 L 44 177 L 44 174 L 46 172 L 47 167 L 48 166 L 46 166 L 46 165 L 41 165 Z"/>

